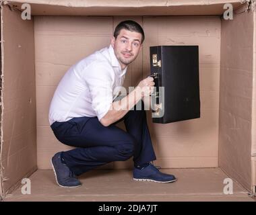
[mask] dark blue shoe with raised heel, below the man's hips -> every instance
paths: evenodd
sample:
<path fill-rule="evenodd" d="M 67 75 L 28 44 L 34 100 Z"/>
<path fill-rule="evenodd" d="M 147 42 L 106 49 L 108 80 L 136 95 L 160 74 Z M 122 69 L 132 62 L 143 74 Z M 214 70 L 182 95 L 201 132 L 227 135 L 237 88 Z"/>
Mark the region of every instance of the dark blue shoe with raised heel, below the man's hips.
<path fill-rule="evenodd" d="M 61 162 L 61 153 L 55 154 L 51 159 L 55 179 L 60 187 L 79 187 L 81 183 L 75 178 L 69 167 Z"/>

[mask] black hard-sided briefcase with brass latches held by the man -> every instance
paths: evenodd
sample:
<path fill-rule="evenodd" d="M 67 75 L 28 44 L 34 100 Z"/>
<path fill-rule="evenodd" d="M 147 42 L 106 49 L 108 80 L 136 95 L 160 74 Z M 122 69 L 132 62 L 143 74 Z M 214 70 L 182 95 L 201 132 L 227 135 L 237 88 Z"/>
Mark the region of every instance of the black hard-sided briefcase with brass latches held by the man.
<path fill-rule="evenodd" d="M 150 47 L 150 73 L 153 122 L 200 118 L 198 46 Z"/>

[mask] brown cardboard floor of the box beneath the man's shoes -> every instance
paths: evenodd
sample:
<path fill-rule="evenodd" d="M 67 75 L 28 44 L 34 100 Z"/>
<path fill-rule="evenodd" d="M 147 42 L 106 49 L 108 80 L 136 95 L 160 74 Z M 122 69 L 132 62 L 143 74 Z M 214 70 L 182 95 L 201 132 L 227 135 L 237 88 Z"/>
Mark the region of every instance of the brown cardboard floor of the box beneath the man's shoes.
<path fill-rule="evenodd" d="M 31 175 L 31 194 L 22 194 L 22 186 L 8 194 L 13 201 L 255 201 L 247 190 L 233 182 L 233 194 L 224 194 L 220 168 L 162 169 L 178 180 L 174 183 L 133 181 L 130 170 L 96 170 L 81 175 L 82 186 L 63 188 L 55 183 L 52 170 Z"/>

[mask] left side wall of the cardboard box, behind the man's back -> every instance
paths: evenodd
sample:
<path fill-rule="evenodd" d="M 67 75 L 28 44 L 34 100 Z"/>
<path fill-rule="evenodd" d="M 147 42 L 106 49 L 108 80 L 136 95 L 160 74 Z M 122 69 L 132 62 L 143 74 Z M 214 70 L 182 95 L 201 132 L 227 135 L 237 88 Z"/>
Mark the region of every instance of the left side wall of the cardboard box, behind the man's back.
<path fill-rule="evenodd" d="M 36 169 L 33 21 L 3 7 L 3 192 Z"/>

